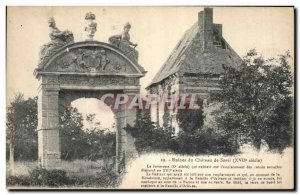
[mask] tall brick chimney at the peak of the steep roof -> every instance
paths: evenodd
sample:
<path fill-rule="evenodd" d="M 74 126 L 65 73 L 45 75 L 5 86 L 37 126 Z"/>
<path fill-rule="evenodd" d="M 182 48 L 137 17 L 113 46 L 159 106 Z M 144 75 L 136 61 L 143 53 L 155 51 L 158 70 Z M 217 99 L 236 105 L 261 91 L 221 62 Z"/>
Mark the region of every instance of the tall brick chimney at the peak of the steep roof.
<path fill-rule="evenodd" d="M 198 26 L 202 49 L 213 48 L 213 8 L 204 8 L 198 14 Z"/>

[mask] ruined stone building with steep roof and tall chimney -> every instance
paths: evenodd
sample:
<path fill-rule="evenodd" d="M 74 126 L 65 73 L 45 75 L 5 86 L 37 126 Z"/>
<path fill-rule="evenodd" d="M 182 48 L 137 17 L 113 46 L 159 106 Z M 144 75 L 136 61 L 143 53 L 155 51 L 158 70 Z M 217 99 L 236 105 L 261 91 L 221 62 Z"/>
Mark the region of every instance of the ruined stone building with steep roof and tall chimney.
<path fill-rule="evenodd" d="M 223 66 L 238 66 L 241 58 L 222 36 L 222 24 L 213 23 L 213 9 L 204 8 L 146 88 L 149 94 L 197 94 L 204 112 L 209 110 L 210 93 L 218 90 Z M 160 126 L 169 123 L 178 132 L 177 110 L 151 106 L 151 118 Z M 206 112 L 207 113 L 207 112 Z"/>

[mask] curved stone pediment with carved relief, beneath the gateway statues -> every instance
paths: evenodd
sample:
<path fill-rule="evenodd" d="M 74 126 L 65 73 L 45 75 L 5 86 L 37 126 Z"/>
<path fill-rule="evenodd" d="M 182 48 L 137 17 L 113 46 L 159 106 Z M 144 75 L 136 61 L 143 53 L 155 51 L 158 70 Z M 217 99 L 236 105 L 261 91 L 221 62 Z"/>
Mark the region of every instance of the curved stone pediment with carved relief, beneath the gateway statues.
<path fill-rule="evenodd" d="M 85 41 L 66 45 L 35 70 L 42 74 L 128 75 L 141 77 L 144 69 L 118 48 L 102 42 Z"/>

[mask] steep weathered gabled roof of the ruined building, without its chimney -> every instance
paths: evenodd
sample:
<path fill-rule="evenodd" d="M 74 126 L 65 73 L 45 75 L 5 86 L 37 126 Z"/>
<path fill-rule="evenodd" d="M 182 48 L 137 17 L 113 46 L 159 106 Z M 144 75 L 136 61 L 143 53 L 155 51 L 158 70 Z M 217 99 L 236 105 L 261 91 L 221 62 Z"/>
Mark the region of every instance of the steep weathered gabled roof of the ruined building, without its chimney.
<path fill-rule="evenodd" d="M 216 30 L 217 24 L 213 25 Z M 214 42 L 208 49 L 203 49 L 206 40 L 201 36 L 203 33 L 198 23 L 188 29 L 147 88 L 175 73 L 221 74 L 224 65 L 238 66 L 241 63 L 241 58 L 221 34 L 219 42 Z"/>

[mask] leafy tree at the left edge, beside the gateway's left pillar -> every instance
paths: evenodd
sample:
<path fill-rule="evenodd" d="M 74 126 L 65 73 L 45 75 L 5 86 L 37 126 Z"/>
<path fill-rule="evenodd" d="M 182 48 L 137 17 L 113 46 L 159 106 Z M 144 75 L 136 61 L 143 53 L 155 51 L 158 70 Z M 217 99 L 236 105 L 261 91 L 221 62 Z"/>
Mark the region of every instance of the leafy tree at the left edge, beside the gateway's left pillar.
<path fill-rule="evenodd" d="M 10 174 L 13 174 L 15 156 L 24 158 L 32 153 L 37 154 L 32 150 L 21 152 L 25 146 L 37 149 L 37 97 L 25 100 L 23 94 L 16 94 L 7 107 L 6 128 Z M 36 159 L 36 156 L 31 157 Z"/>

